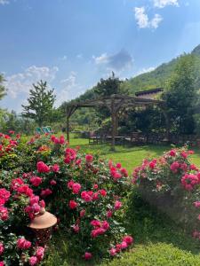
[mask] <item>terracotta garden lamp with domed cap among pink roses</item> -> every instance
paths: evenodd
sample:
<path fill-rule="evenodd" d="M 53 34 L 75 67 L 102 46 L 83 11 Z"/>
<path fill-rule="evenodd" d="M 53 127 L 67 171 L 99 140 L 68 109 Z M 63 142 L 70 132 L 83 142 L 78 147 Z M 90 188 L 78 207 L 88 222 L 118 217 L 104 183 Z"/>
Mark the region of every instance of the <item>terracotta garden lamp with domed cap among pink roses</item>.
<path fill-rule="evenodd" d="M 45 211 L 44 207 L 42 207 L 28 227 L 35 233 L 38 244 L 45 246 L 52 237 L 52 226 L 56 223 L 56 216 Z"/>

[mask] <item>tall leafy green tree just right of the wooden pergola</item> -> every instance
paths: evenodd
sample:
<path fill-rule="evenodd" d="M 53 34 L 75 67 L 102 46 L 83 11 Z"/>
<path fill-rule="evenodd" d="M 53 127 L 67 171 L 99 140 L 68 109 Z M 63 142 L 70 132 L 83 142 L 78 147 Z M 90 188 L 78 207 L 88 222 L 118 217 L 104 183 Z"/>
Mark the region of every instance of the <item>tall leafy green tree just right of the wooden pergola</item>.
<path fill-rule="evenodd" d="M 196 102 L 196 58 L 193 55 L 180 58 L 166 89 L 163 98 L 172 130 L 178 134 L 193 134 Z"/>

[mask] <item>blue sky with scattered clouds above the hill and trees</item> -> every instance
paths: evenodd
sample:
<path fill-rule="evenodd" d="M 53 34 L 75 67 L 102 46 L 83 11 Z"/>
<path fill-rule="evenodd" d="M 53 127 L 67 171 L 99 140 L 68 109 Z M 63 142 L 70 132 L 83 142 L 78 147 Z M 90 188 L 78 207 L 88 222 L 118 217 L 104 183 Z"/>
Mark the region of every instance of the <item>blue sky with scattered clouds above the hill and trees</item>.
<path fill-rule="evenodd" d="M 131 78 L 198 44 L 199 0 L 0 0 L 0 107 L 20 113 L 41 79 L 60 106 L 112 71 Z"/>

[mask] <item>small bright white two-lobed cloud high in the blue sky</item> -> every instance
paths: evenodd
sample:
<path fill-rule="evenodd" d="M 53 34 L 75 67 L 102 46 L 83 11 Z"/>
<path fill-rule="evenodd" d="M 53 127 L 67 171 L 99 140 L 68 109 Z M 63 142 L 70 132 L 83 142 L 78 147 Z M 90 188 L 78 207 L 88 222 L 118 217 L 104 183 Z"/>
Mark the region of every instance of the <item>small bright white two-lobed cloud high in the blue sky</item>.
<path fill-rule="evenodd" d="M 155 14 L 152 20 L 148 19 L 148 14 L 145 12 L 145 7 L 135 7 L 135 20 L 140 28 L 151 27 L 157 28 L 159 23 L 163 20 L 162 16 Z"/>

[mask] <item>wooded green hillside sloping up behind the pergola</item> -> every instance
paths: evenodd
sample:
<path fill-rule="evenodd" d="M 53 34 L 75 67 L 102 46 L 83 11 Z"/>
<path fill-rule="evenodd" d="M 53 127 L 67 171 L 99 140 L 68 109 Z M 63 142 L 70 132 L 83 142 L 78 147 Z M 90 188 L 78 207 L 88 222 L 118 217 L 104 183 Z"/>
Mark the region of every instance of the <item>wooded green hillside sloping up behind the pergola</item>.
<path fill-rule="evenodd" d="M 196 90 L 200 89 L 200 44 L 196 46 L 196 48 L 191 51 L 190 55 L 194 57 L 194 66 L 195 66 L 195 79 L 196 79 Z M 165 88 L 166 82 L 170 79 L 172 74 L 174 73 L 174 70 L 176 68 L 177 63 L 179 62 L 181 57 L 186 56 L 186 54 L 182 54 L 176 59 L 172 59 L 168 63 L 164 63 L 160 66 L 157 66 L 156 69 L 154 69 L 151 72 L 139 74 L 135 77 L 132 77 L 129 80 L 126 80 L 121 83 L 122 91 L 127 91 L 127 94 L 129 95 L 135 95 L 135 92 L 140 90 L 150 90 L 154 88 Z M 76 98 L 75 100 L 78 101 L 84 101 L 86 99 L 92 99 L 95 98 L 93 87 L 90 90 L 86 90 L 84 94 L 82 94 L 80 97 Z M 72 100 L 74 101 L 74 100 Z M 77 122 L 79 125 L 84 126 L 92 125 L 95 123 L 95 110 L 93 109 L 78 109 L 76 111 L 76 114 L 73 115 L 72 120 Z"/>

